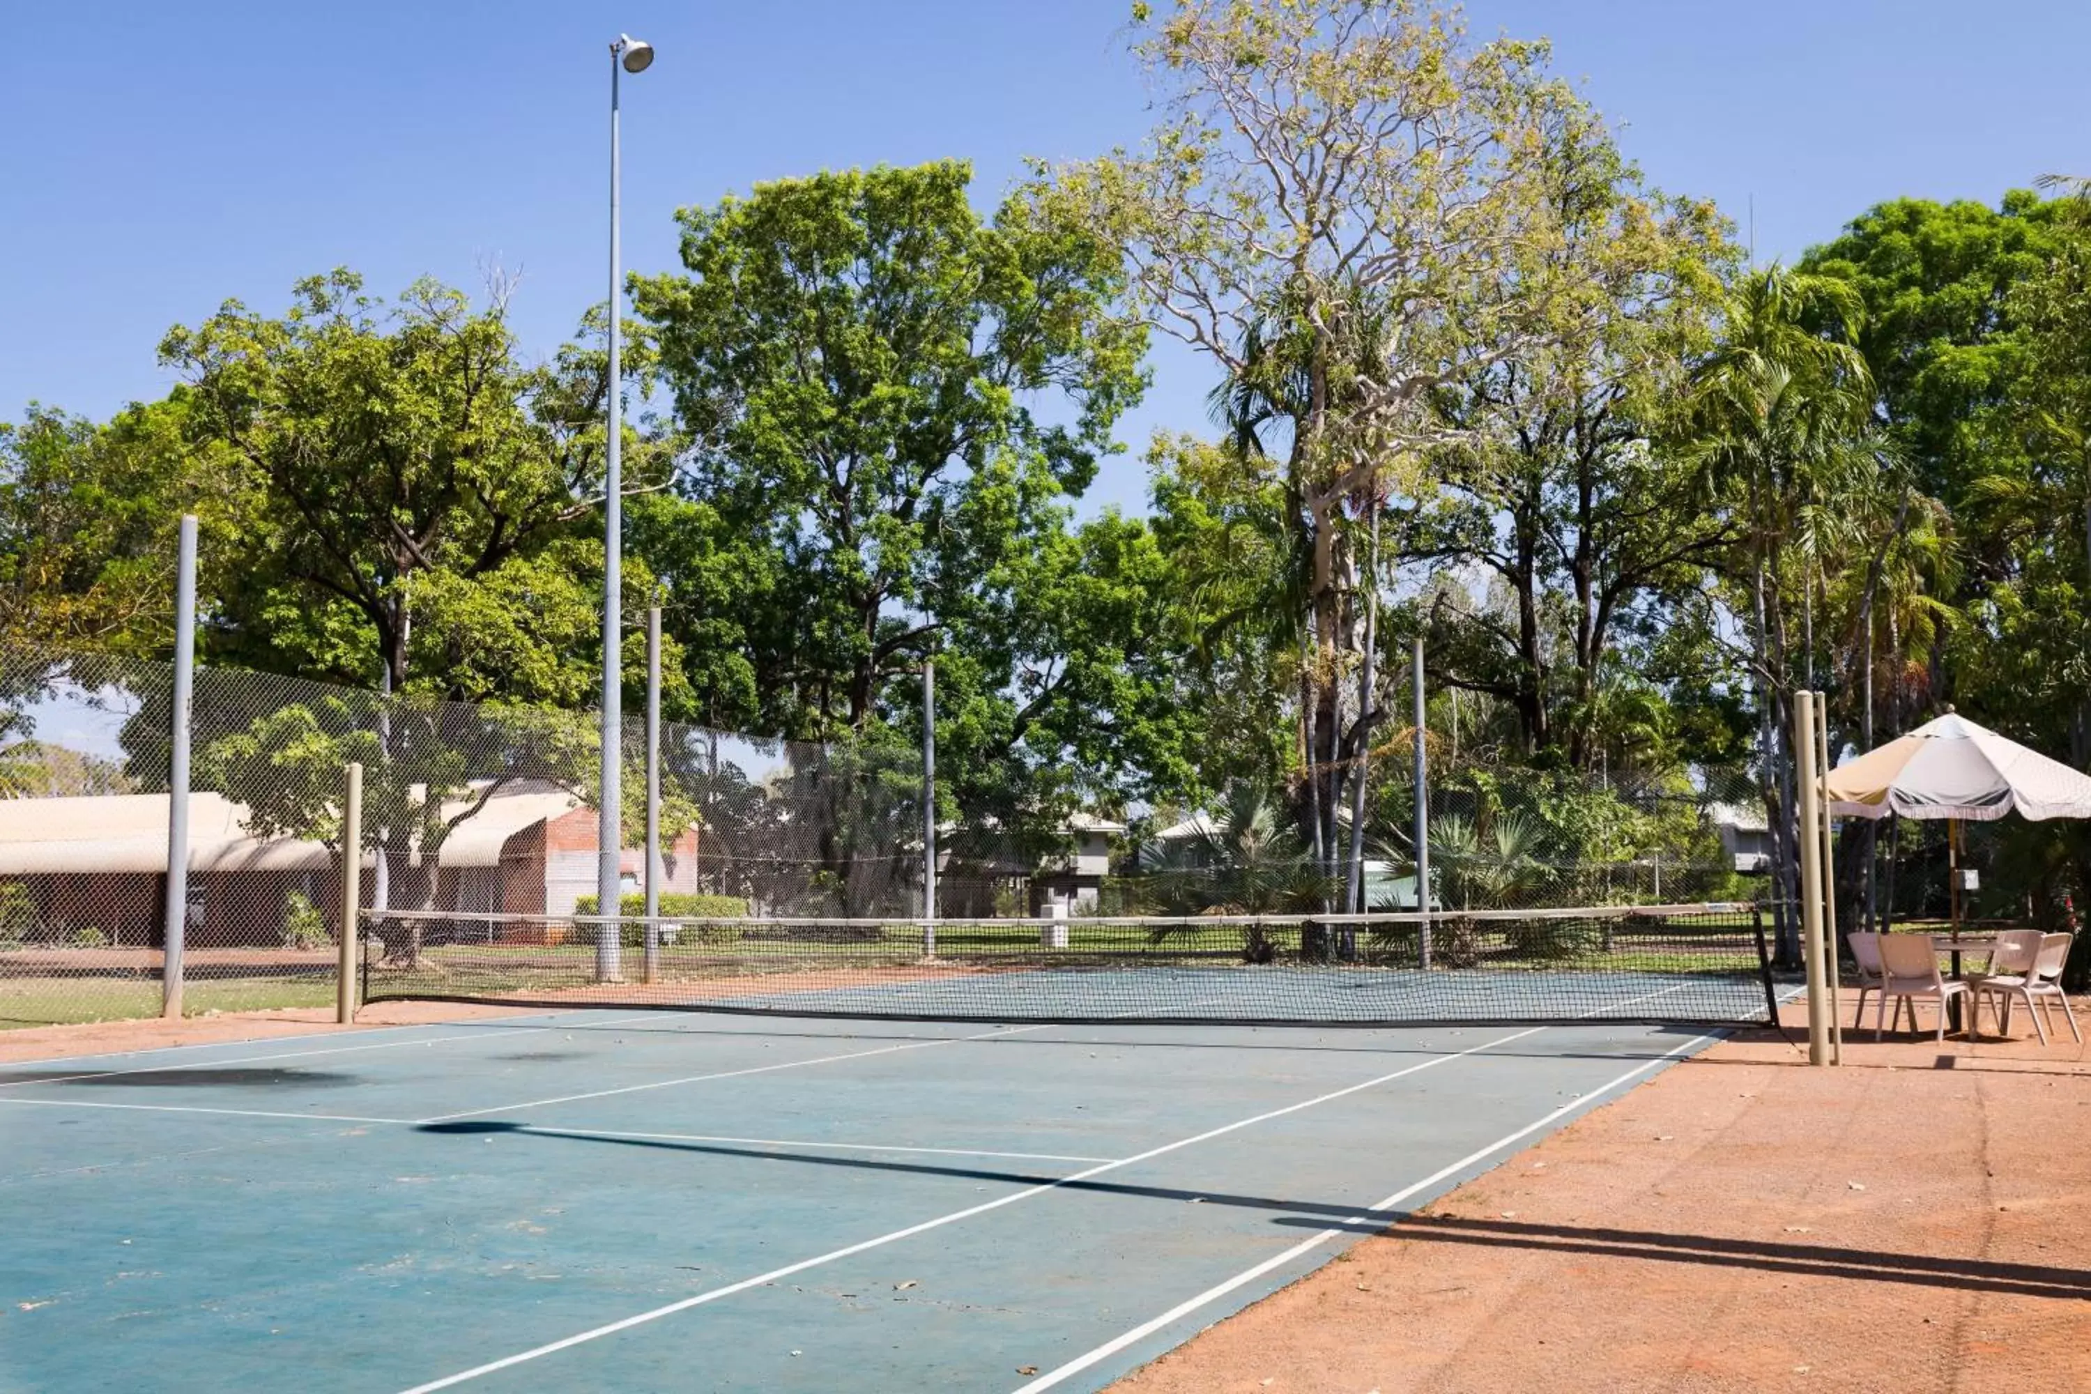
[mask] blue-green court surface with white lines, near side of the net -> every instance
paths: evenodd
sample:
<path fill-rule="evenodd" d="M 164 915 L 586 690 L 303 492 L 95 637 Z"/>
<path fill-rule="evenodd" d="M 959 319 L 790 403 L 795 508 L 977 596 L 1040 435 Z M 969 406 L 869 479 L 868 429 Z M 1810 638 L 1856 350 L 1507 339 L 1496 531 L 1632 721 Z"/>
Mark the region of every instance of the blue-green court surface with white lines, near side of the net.
<path fill-rule="evenodd" d="M 0 1390 L 1096 1390 L 1708 1039 L 567 1012 L 0 1066 Z"/>

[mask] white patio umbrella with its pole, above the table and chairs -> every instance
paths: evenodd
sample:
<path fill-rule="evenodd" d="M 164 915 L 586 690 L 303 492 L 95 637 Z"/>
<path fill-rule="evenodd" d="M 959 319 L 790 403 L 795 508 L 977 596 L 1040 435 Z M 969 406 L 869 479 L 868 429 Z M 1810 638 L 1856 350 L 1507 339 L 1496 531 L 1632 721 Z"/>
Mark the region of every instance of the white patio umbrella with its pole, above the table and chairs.
<path fill-rule="evenodd" d="M 2091 817 L 2091 775 L 1951 711 L 1846 761 L 1823 780 L 1832 817 L 1943 817 L 1959 932 L 1959 821 Z M 1955 959 L 1957 961 L 1957 959 Z"/>

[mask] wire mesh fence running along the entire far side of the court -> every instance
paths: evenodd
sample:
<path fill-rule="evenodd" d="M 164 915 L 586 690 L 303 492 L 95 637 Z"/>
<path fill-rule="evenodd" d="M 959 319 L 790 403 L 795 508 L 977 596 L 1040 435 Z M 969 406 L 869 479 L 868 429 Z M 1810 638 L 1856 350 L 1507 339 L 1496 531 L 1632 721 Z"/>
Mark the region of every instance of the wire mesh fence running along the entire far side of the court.
<path fill-rule="evenodd" d="M 596 903 L 594 713 L 199 667 L 190 738 L 192 1014 L 332 1001 L 351 761 L 364 767 L 360 905 L 393 913 L 372 959 L 387 991 L 441 986 L 424 980 L 439 951 L 562 949 L 592 943 L 590 915 L 642 911 L 638 717 L 621 742 L 615 907 Z M 0 652 L 0 1020 L 157 1014 L 169 748 L 167 665 Z M 1347 899 L 1345 857 L 1317 861 L 1301 846 L 1284 788 L 1236 790 L 1204 811 L 1060 811 L 1012 826 L 1006 811 L 968 809 L 947 786 L 928 907 L 922 752 L 910 740 L 788 742 L 663 723 L 659 752 L 661 915 L 999 920 L 1016 940 L 1035 940 L 1027 917 L 1276 913 L 1294 926 L 1290 953 L 1313 957 L 1309 917 Z M 1593 782 L 1445 765 L 1430 784 L 1422 907 L 1434 913 L 1731 903 L 1763 886 L 1738 869 L 1763 840 L 1763 805 L 1736 777 Z M 1382 765 L 1359 840 L 1368 911 L 1420 907 L 1411 817 L 1405 771 Z M 631 924 L 621 938 L 644 947 Z"/>

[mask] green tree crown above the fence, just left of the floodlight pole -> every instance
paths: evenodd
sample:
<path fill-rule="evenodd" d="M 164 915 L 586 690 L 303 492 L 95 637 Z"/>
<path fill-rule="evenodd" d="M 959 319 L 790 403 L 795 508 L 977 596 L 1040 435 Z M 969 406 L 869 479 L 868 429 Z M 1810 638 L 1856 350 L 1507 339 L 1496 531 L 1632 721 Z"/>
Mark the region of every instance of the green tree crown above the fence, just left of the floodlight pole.
<path fill-rule="evenodd" d="M 337 270 L 282 318 L 228 301 L 176 326 L 161 359 L 188 382 L 192 456 L 259 493 L 213 652 L 393 692 L 583 700 L 600 353 L 527 366 L 500 295 L 473 309 L 416 282 L 387 305 Z M 659 481 L 659 449 L 634 439 L 627 458 L 638 487 Z M 644 568 L 627 585 L 644 596 Z"/>

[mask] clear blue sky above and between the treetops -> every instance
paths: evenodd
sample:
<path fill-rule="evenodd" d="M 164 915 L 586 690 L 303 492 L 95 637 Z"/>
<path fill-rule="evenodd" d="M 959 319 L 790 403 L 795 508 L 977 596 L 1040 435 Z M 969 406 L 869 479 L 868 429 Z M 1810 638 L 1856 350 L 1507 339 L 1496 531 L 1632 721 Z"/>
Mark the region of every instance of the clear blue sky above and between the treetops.
<path fill-rule="evenodd" d="M 652 40 L 625 88 L 625 261 L 675 263 L 673 209 L 822 167 L 966 157 L 983 205 L 1025 155 L 1148 125 L 1129 0 L 0 6 L 0 418 L 155 395 L 169 324 L 353 265 L 521 272 L 552 351 L 604 293 L 606 42 Z M 1880 199 L 1995 201 L 2091 173 L 2091 4 L 1483 0 L 1478 33 L 1547 36 L 1664 188 L 1713 196 L 1761 257 Z M 1123 428 L 1198 428 L 1209 370 L 1156 355 Z M 1138 449 L 1092 502 L 1138 506 Z"/>

